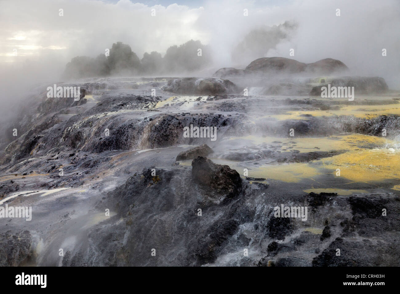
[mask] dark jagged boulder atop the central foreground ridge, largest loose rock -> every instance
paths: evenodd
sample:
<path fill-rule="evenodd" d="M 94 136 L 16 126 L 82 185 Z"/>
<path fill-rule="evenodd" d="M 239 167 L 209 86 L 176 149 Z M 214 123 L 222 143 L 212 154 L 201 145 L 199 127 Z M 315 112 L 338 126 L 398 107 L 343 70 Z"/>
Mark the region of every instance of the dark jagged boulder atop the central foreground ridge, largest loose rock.
<path fill-rule="evenodd" d="M 203 156 L 192 161 L 192 179 L 196 184 L 228 194 L 228 198 L 238 194 L 242 187 L 242 180 L 236 170 L 227 165 L 215 164 Z"/>

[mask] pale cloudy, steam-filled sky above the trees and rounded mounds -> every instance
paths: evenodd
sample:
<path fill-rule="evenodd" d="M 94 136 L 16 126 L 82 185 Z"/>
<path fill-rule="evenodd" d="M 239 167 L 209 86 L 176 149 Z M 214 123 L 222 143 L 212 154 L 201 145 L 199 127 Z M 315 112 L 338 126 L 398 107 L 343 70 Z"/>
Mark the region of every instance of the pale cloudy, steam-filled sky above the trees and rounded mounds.
<path fill-rule="evenodd" d="M 0 0 L 0 74 L 55 77 L 72 57 L 95 57 L 117 41 L 142 58 L 200 40 L 212 46 L 214 68 L 246 66 L 232 64 L 232 48 L 251 30 L 286 20 L 299 24 L 296 34 L 260 57 L 335 58 L 398 83 L 399 0 Z"/>

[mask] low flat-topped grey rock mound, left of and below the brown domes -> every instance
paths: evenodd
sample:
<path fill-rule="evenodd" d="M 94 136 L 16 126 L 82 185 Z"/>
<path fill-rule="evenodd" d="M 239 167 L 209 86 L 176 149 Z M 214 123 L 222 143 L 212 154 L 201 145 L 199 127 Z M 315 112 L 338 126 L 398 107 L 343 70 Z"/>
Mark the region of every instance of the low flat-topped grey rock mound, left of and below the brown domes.
<path fill-rule="evenodd" d="M 176 94 L 193 95 L 216 95 L 238 92 L 234 83 L 230 80 L 222 80 L 220 78 L 178 78 L 169 80 L 161 89 Z"/>

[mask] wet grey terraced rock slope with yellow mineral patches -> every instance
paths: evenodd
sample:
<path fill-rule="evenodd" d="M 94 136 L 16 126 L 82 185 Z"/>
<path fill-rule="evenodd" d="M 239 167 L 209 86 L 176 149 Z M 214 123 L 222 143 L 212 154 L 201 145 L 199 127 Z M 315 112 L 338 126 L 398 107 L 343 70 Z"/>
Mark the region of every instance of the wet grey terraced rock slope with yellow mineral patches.
<path fill-rule="evenodd" d="M 399 265 L 397 93 L 172 96 L 167 80 L 86 80 L 81 104 L 40 92 L 2 125 L 0 206 L 33 211 L 0 220 L 2 266 Z"/>

